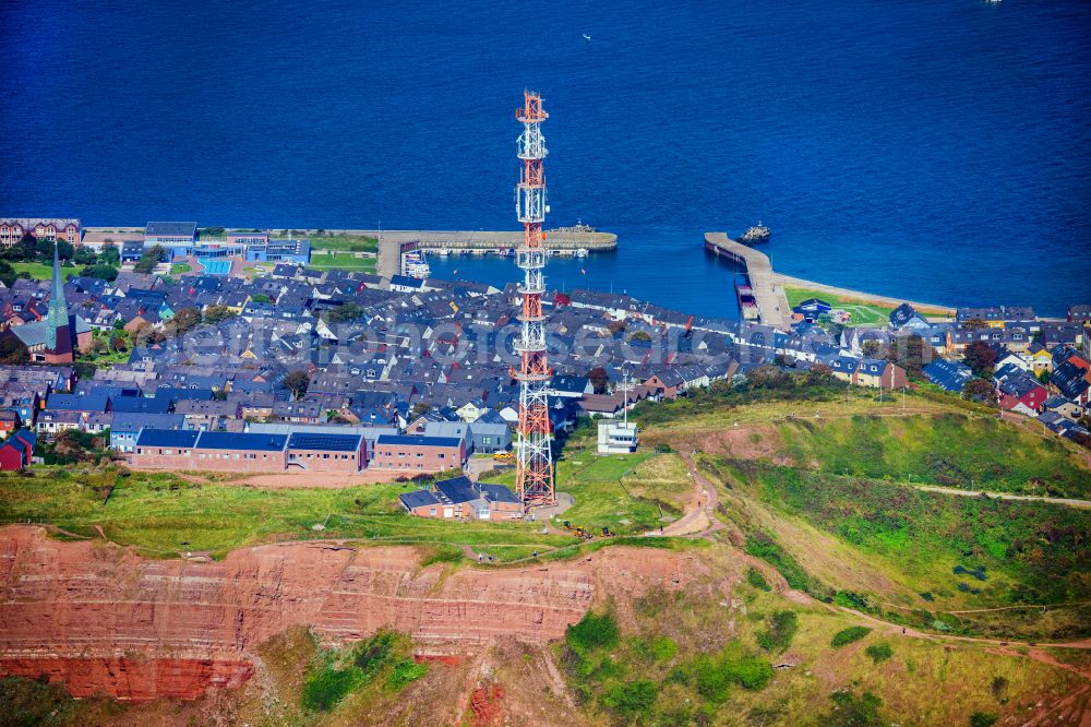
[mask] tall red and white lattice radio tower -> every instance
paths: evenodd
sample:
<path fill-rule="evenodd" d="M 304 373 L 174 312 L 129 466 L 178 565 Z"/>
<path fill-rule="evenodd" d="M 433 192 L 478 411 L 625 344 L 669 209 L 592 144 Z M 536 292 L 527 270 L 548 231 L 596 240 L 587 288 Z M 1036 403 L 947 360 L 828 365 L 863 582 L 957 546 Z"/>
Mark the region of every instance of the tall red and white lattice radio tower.
<path fill-rule="evenodd" d="M 523 92 L 523 108 L 515 118 L 523 123 L 519 136 L 519 158 L 523 171 L 515 188 L 515 206 L 526 233 L 516 262 L 523 270 L 523 313 L 518 317 L 523 332 L 515 343 L 519 355 L 519 370 L 513 374 L 519 382 L 519 430 L 516 442 L 518 465 L 515 470 L 515 492 L 524 509 L 556 504 L 553 490 L 553 436 L 550 432 L 547 390 L 551 371 L 546 362 L 546 317 L 542 314 L 542 295 L 546 293 L 546 177 L 542 159 L 546 158 L 546 138 L 541 122 L 548 118 L 542 110 L 541 96 L 531 91 Z"/>

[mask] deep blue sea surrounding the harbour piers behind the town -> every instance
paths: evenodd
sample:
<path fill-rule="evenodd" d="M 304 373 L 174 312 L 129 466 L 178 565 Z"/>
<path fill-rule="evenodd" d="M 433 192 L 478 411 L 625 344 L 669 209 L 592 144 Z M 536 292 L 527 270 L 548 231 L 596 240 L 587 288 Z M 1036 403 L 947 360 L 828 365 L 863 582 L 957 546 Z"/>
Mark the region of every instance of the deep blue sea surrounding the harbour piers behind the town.
<path fill-rule="evenodd" d="M 515 229 L 531 87 L 548 224 L 620 237 L 555 285 L 730 315 L 702 234 L 760 221 L 801 277 L 1091 301 L 1086 0 L 0 0 L 0 216 Z"/>

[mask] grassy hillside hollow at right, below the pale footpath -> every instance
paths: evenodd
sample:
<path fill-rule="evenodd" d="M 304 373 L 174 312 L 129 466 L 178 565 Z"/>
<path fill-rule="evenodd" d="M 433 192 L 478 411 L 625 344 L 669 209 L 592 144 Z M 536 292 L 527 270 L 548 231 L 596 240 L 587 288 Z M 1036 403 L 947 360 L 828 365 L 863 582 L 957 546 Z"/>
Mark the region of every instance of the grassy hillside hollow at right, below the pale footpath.
<path fill-rule="evenodd" d="M 771 535 L 814 576 L 798 585 L 819 598 L 938 631 L 1087 635 L 1091 511 L 753 463 L 714 466 L 728 473 L 735 501 L 757 500 L 751 509 L 726 508 L 728 514 L 755 544 Z M 832 547 L 816 552 L 818 538 L 832 538 Z M 839 568 L 824 565 L 824 557 Z M 973 613 L 932 613 L 986 608 L 1009 610 L 992 623 Z"/>

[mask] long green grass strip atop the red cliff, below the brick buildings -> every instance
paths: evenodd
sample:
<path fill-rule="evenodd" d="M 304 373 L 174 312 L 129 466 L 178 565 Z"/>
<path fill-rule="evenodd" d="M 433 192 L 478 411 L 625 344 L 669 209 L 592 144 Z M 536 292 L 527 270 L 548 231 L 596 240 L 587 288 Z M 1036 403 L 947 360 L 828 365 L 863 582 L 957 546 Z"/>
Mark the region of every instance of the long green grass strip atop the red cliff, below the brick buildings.
<path fill-rule="evenodd" d="M 543 536 L 530 523 L 411 517 L 398 506 L 397 496 L 422 487 L 418 484 L 263 490 L 244 482 L 188 481 L 167 473 L 119 477 L 71 470 L 35 467 L 33 478 L 0 476 L 0 523 L 45 522 L 86 536 L 95 536 L 97 525 L 110 540 L 160 558 L 183 550 L 220 556 L 247 545 L 308 538 L 470 545 L 502 560 L 533 548 L 544 552 L 573 545 L 571 537 Z M 117 486 L 104 502 L 110 482 Z M 312 529 L 323 522 L 324 531 Z M 492 549 L 493 544 L 499 547 Z"/>

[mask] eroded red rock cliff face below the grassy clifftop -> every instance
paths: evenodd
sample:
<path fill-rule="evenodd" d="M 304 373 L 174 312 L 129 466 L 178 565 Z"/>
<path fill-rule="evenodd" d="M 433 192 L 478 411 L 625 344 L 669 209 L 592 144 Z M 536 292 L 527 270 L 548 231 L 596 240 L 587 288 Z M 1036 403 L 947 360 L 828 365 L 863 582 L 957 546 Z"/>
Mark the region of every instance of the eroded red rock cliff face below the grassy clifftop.
<path fill-rule="evenodd" d="M 252 649 L 296 624 L 337 642 L 388 627 L 425 647 L 497 636 L 542 642 L 597 588 L 639 595 L 703 571 L 691 556 L 608 548 L 524 569 L 421 568 L 407 547 L 286 544 L 223 562 L 151 561 L 38 527 L 0 528 L 0 672 L 64 681 L 80 696 L 197 696 L 253 671 Z"/>

